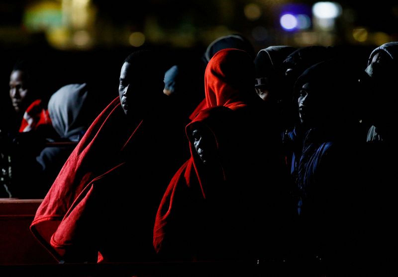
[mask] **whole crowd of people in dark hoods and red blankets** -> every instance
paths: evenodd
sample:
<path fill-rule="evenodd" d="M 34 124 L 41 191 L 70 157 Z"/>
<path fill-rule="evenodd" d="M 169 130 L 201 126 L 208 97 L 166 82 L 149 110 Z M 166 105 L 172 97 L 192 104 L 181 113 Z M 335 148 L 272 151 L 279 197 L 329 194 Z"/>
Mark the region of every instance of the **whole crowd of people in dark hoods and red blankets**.
<path fill-rule="evenodd" d="M 233 34 L 192 70 L 141 49 L 95 115 L 87 84 L 44 105 L 16 65 L 9 133 L 46 143 L 17 151 L 1 195 L 43 199 L 30 229 L 59 262 L 391 266 L 397 58 L 385 43 L 358 69 L 334 47 L 256 54 Z"/>

